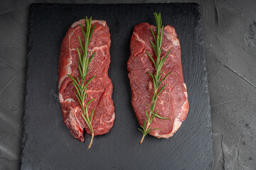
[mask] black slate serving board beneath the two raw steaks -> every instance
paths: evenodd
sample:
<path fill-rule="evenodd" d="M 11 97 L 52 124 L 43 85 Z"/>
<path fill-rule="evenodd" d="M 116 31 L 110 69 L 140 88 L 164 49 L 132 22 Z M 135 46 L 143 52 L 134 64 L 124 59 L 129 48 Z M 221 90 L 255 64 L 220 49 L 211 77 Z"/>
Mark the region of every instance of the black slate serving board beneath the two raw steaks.
<path fill-rule="evenodd" d="M 142 137 L 131 104 L 127 77 L 129 42 L 135 25 L 163 24 L 176 28 L 181 41 L 183 76 L 188 86 L 188 118 L 169 140 Z M 26 104 L 23 118 L 21 169 L 212 169 L 212 132 L 201 8 L 198 4 L 33 4 L 28 42 Z M 75 140 L 63 123 L 58 101 L 58 54 L 72 23 L 85 16 L 107 21 L 116 119 L 91 149 Z"/>

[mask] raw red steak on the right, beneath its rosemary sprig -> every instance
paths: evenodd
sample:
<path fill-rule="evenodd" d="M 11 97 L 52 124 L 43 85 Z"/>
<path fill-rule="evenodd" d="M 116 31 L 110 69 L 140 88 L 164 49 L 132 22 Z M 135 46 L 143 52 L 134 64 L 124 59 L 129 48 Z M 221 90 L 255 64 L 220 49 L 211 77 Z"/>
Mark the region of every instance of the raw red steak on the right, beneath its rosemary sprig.
<path fill-rule="evenodd" d="M 146 52 L 156 60 L 153 48 L 149 40 L 154 42 L 150 28 L 155 26 L 149 23 L 140 23 L 134 27 L 131 40 L 131 56 L 128 61 L 129 80 L 132 88 L 132 106 L 136 113 L 139 125 L 143 125 L 146 121 L 147 104 L 150 105 L 151 98 L 154 94 L 154 85 L 152 78 L 147 72 L 154 74 L 154 64 L 151 62 Z M 188 94 L 186 84 L 183 81 L 181 67 L 181 47 L 177 38 L 176 31 L 172 26 L 164 27 L 164 38 L 162 41 L 161 56 L 165 56 L 171 49 L 169 57 L 164 62 L 161 71 L 165 71 L 162 77 L 168 72 L 172 72 L 166 78 L 164 84 L 168 84 L 164 91 L 161 92 L 156 101 L 156 109 L 159 109 L 158 115 L 169 120 L 154 118 L 151 128 L 161 128 L 161 130 L 152 130 L 149 134 L 154 137 L 169 138 L 181 127 L 188 114 Z M 159 89 L 161 89 L 161 87 Z"/>

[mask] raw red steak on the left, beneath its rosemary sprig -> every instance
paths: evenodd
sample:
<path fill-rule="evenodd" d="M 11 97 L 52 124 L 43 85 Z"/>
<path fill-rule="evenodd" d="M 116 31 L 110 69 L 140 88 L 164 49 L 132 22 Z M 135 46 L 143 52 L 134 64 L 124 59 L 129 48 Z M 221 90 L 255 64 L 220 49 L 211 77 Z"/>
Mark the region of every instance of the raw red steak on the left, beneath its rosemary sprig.
<path fill-rule="evenodd" d="M 82 110 L 78 99 L 74 95 L 77 92 L 72 80 L 67 76 L 67 74 L 70 74 L 73 77 L 79 77 L 78 51 L 76 49 L 77 47 L 80 49 L 78 35 L 80 35 L 84 44 L 80 24 L 85 29 L 84 20 L 73 23 L 61 44 L 58 65 L 58 89 L 63 121 L 72 135 L 84 142 L 83 131 L 85 129 L 90 134 L 90 129 L 82 118 Z M 89 50 L 92 51 L 89 57 L 95 51 L 96 54 L 90 63 L 90 71 L 85 82 L 95 74 L 97 76 L 87 86 L 88 95 L 85 98 L 85 103 L 95 98 L 87 108 L 89 113 L 95 108 L 92 127 L 95 135 L 102 135 L 107 133 L 114 123 L 114 104 L 111 98 L 113 87 L 107 73 L 110 67 L 110 30 L 106 21 L 94 20 L 92 21 L 92 26 L 95 26 L 95 30 L 89 45 Z"/>

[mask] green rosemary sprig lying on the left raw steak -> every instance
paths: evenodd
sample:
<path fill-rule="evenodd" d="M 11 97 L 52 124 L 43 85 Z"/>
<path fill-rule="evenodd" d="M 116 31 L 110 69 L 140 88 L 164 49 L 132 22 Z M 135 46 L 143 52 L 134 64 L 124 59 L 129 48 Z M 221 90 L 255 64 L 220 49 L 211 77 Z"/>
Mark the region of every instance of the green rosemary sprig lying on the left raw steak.
<path fill-rule="evenodd" d="M 70 77 L 70 79 L 73 80 L 72 83 L 75 86 L 75 89 L 78 93 L 78 94 L 75 94 L 75 96 L 78 98 L 78 101 L 79 101 L 80 106 L 82 108 L 82 118 L 85 120 L 85 123 L 87 124 L 87 126 L 90 129 L 90 132 L 92 134 L 88 149 L 92 146 L 92 140 L 93 140 L 93 137 L 94 137 L 94 132 L 93 132 L 93 128 L 92 128 L 92 115 L 93 115 L 93 112 L 95 111 L 95 109 L 93 109 L 92 112 L 89 115 L 88 110 L 87 110 L 87 106 L 95 98 L 92 98 L 87 103 L 85 103 L 85 98 L 87 96 L 87 85 L 90 83 L 90 81 L 92 81 L 92 79 L 94 79 L 96 77 L 96 75 L 95 75 L 90 80 L 85 82 L 85 78 L 87 77 L 87 74 L 90 71 L 89 64 L 90 64 L 90 62 L 92 62 L 92 59 L 95 56 L 95 52 L 94 52 L 91 57 L 88 57 L 89 53 L 91 52 L 91 51 L 88 50 L 88 47 L 89 47 L 90 40 L 92 38 L 93 30 L 95 28 L 95 26 L 93 26 L 92 29 L 91 29 L 91 26 L 92 26 L 91 23 L 92 23 L 92 17 L 90 19 L 88 19 L 87 16 L 86 16 L 86 18 L 85 18 L 85 30 L 80 25 L 80 27 L 82 29 L 82 34 L 84 35 L 84 38 L 85 38 L 85 45 L 83 46 L 82 45 L 82 40 L 81 40 L 80 36 L 78 36 L 80 46 L 81 46 L 81 50 L 82 50 L 82 53 L 81 53 L 80 50 L 77 47 L 78 57 L 79 57 L 78 69 L 79 69 L 79 73 L 80 73 L 80 79 L 79 79 L 79 77 L 76 77 L 76 79 L 75 79 L 74 77 L 72 77 L 71 75 L 68 74 L 68 77 Z"/>

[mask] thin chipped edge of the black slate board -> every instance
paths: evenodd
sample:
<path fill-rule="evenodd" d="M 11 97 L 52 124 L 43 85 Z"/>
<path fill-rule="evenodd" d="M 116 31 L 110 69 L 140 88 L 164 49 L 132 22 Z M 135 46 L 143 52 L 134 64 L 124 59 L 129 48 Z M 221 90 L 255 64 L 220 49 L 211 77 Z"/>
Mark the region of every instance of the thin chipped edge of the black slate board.
<path fill-rule="evenodd" d="M 141 4 L 141 3 L 139 3 Z M 198 11 L 200 13 L 200 19 L 198 19 L 198 27 L 200 28 L 200 31 L 198 31 L 198 33 L 200 33 L 201 35 L 201 38 L 203 39 L 203 18 L 202 18 L 202 8 L 201 8 L 201 5 L 198 4 L 198 3 L 147 3 L 147 4 L 191 4 L 191 5 L 197 5 L 198 6 Z M 26 63 L 26 89 L 25 89 L 25 102 L 24 102 L 24 108 L 23 108 L 23 134 L 22 134 L 22 138 L 21 138 L 21 156 L 20 156 L 20 160 L 21 160 L 21 164 L 20 164 L 20 168 L 21 168 L 21 165 L 23 164 L 23 149 L 26 147 L 26 140 L 27 140 L 27 132 L 26 132 L 26 128 L 25 128 L 25 125 L 26 125 L 26 121 L 28 120 L 27 119 L 27 115 L 26 115 L 26 108 L 27 108 L 27 101 L 28 101 L 28 97 L 27 97 L 27 94 L 28 94 L 28 80 L 29 80 L 29 77 L 28 77 L 28 68 L 29 68 L 29 65 L 30 65 L 30 56 L 31 56 L 31 53 L 30 53 L 30 49 L 31 49 L 31 21 L 32 21 L 32 18 L 33 18 L 33 15 L 32 15 L 32 11 L 33 11 L 33 8 L 34 6 L 55 6 L 55 5 L 58 5 L 58 6 L 65 6 L 65 5 L 86 5 L 86 4 L 58 4 L 58 3 L 55 3 L 55 4 L 42 4 L 42 3 L 35 3 L 35 4 L 31 4 L 30 8 L 29 8 L 29 22 L 28 22 L 28 46 L 27 46 L 27 63 Z M 92 5 L 92 4 L 90 4 Z M 94 4 L 94 5 L 119 5 L 119 4 Z M 125 5 L 125 4 L 123 4 Z M 127 4 L 127 5 L 132 5 L 132 4 Z M 143 5 L 143 4 L 142 4 Z M 202 40 L 203 42 L 203 64 L 204 64 L 204 73 L 205 73 L 205 76 L 204 76 L 204 79 L 206 79 L 206 81 L 204 82 L 205 83 L 205 93 L 207 95 L 207 98 L 208 98 L 208 102 L 210 103 L 210 96 L 209 96 L 209 91 L 208 91 L 208 77 L 207 77 L 207 69 L 206 69 L 206 55 L 205 55 L 205 50 L 204 50 L 204 40 Z M 210 105 L 208 106 L 208 120 L 210 120 Z M 210 136 L 211 138 L 213 139 L 213 130 L 212 130 L 212 125 L 211 125 L 211 122 L 209 123 L 210 127 L 208 127 L 210 129 Z M 211 151 L 212 151 L 212 157 L 213 157 L 213 147 L 211 147 Z M 213 157 L 213 162 L 214 162 L 214 157 Z M 208 169 L 213 169 L 213 162 L 211 162 L 209 165 L 208 165 Z"/>

